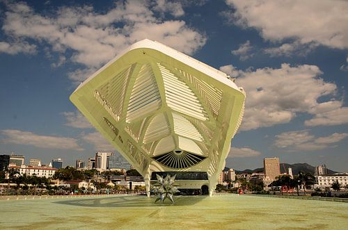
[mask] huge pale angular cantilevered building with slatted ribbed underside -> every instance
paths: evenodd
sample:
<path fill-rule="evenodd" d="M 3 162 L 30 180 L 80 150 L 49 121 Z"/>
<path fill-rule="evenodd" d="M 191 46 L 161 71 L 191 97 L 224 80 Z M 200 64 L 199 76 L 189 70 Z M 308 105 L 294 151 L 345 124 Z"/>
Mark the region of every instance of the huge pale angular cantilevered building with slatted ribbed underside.
<path fill-rule="evenodd" d="M 144 176 L 148 195 L 159 172 L 180 172 L 179 188 L 212 195 L 244 99 L 228 75 L 151 40 L 130 46 L 70 96 Z"/>

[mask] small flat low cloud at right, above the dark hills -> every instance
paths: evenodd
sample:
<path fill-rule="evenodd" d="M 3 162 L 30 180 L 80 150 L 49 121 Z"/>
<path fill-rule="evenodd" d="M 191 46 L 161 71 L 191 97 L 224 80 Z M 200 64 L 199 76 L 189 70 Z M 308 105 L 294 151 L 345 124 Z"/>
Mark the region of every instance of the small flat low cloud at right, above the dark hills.
<path fill-rule="evenodd" d="M 286 151 L 315 151 L 334 147 L 331 144 L 348 137 L 348 133 L 333 133 L 326 137 L 315 137 L 308 130 L 289 131 L 276 135 L 274 145 Z"/>

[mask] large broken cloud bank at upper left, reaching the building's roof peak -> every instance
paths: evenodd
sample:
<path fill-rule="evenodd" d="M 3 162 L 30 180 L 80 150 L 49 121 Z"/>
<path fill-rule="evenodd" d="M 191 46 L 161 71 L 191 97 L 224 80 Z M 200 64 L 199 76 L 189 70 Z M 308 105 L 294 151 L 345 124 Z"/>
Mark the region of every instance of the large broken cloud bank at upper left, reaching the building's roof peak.
<path fill-rule="evenodd" d="M 180 15 L 178 4 L 176 10 L 161 10 Z M 9 38 L 20 38 L 31 46 L 29 42 L 33 41 L 48 44 L 51 51 L 87 69 L 99 68 L 129 44 L 145 38 L 186 54 L 193 54 L 206 40 L 182 20 L 164 21 L 155 17 L 149 1 L 118 2 L 106 13 L 95 13 L 91 6 L 78 6 L 61 7 L 52 14 L 40 15 L 22 2 L 6 3 L 6 8 L 2 29 Z M 13 45 L 4 43 L 1 49 L 10 50 L 6 46 Z M 63 62 L 63 58 L 58 60 Z M 81 75 L 72 74 L 70 78 L 80 81 Z"/>

